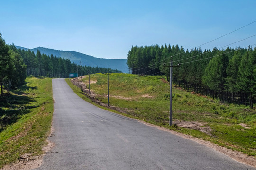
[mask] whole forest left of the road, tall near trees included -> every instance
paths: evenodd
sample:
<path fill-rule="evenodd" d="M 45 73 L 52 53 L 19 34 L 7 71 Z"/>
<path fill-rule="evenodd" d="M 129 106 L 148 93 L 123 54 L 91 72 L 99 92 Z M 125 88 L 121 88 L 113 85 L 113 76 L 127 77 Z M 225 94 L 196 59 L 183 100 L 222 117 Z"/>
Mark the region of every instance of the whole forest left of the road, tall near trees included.
<path fill-rule="evenodd" d="M 111 68 L 81 66 L 71 63 L 69 59 L 56 56 L 37 54 L 30 50 L 17 49 L 14 44 L 7 45 L 0 33 L 0 84 L 1 95 L 3 85 L 14 88 L 22 85 L 27 75 L 46 76 L 54 78 L 68 78 L 69 73 L 78 73 L 78 76 L 93 73 L 121 73 Z"/>

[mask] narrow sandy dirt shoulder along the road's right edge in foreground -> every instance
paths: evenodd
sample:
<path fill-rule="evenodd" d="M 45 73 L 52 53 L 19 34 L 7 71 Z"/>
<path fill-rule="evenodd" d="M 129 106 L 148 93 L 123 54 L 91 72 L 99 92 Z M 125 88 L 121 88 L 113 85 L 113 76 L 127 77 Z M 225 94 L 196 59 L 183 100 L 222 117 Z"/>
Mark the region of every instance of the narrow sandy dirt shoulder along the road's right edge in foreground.
<path fill-rule="evenodd" d="M 249 166 L 252 166 L 252 167 L 256 168 L 256 158 L 254 156 L 248 156 L 247 154 L 244 154 L 242 152 L 232 151 L 231 149 L 227 149 L 227 148 L 219 146 L 217 144 L 212 144 L 209 141 L 204 141 L 204 140 L 201 140 L 201 139 L 189 136 L 189 135 L 185 135 L 183 133 L 176 132 L 174 130 L 169 130 L 169 129 L 166 129 L 164 127 L 159 127 L 159 126 L 156 126 L 156 125 L 152 125 L 152 124 L 146 123 L 144 121 L 139 120 L 139 122 L 142 122 L 142 123 L 146 124 L 147 126 L 156 127 L 160 130 L 164 130 L 164 131 L 170 132 L 172 134 L 181 136 L 185 139 L 190 139 L 190 140 L 195 141 L 199 144 L 203 144 L 203 145 L 205 145 L 209 148 L 212 148 L 212 149 L 214 149 L 214 150 L 216 150 L 220 153 L 226 154 L 230 158 L 232 158 L 232 159 L 234 159 L 234 160 L 236 160 L 240 163 L 244 163 L 246 165 L 249 165 Z"/>

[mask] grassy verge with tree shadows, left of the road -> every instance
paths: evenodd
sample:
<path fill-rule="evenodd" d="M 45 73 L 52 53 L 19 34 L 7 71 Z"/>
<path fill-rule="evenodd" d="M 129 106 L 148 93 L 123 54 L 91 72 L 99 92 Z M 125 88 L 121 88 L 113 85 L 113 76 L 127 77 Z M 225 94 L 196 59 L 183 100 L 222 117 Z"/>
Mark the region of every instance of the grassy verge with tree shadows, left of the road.
<path fill-rule="evenodd" d="M 25 153 L 42 154 L 52 116 L 51 78 L 28 77 L 26 85 L 0 97 L 0 168 Z"/>

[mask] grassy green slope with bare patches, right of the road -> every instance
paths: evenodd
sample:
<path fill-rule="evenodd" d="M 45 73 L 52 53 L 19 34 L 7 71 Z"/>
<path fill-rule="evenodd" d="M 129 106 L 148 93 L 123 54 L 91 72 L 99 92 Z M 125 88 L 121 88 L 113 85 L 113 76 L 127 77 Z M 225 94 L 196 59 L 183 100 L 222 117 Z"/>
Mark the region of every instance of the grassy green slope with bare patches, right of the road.
<path fill-rule="evenodd" d="M 201 127 L 208 127 L 211 130 L 206 134 L 199 130 L 179 127 L 179 123 L 177 123 L 178 127 L 169 127 L 169 85 L 166 81 L 163 82 L 163 78 L 111 74 L 110 105 L 125 110 L 126 116 L 256 157 L 256 110 L 250 110 L 242 105 L 224 104 L 206 96 L 173 88 L 174 122 L 176 120 L 201 122 L 203 124 Z M 91 84 L 91 90 L 97 94 L 98 99 L 107 103 L 107 75 L 94 74 L 90 76 L 90 80 L 97 81 Z M 88 87 L 88 76 L 82 81 Z M 79 88 L 71 86 L 81 95 Z"/>

